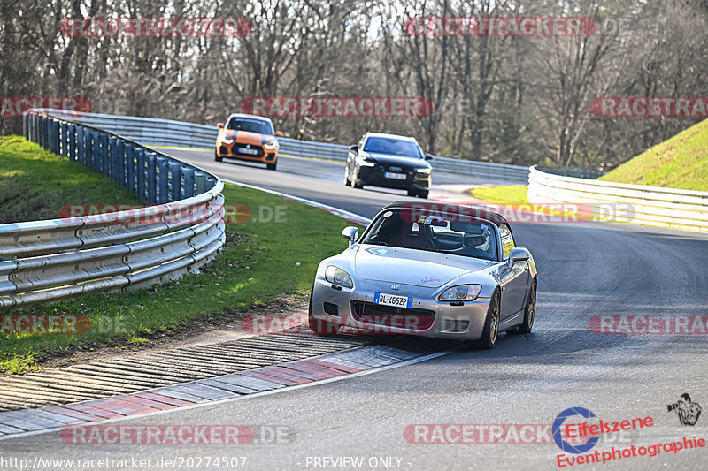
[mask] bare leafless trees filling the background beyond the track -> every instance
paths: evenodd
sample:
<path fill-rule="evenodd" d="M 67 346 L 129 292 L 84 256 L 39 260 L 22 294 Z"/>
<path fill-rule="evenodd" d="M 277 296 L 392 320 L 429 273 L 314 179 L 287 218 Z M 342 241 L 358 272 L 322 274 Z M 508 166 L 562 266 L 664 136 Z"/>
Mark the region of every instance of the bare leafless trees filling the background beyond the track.
<path fill-rule="evenodd" d="M 573 37 L 426 37 L 410 17 L 589 17 Z M 245 37 L 72 38 L 81 17 L 239 17 Z M 708 96 L 708 5 L 661 0 L 0 0 L 0 96 L 213 124 L 253 96 L 420 96 L 414 118 L 274 118 L 290 137 L 412 134 L 435 154 L 608 169 L 699 118 L 599 118 L 603 96 Z M 0 117 L 0 133 L 19 133 Z"/>

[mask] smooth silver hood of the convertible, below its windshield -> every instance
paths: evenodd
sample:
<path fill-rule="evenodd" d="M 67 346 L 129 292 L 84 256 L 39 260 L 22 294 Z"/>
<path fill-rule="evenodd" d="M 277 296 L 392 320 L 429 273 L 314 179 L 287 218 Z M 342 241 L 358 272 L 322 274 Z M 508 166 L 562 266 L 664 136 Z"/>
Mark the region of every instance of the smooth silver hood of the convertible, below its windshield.
<path fill-rule="evenodd" d="M 354 267 L 359 279 L 439 288 L 453 279 L 489 268 L 490 262 L 412 248 L 363 245 Z"/>

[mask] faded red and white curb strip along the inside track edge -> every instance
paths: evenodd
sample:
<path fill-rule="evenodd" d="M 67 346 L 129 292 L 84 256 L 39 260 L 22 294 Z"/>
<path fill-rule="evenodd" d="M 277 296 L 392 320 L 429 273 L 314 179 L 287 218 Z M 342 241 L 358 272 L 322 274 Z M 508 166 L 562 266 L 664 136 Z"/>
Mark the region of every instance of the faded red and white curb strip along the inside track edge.
<path fill-rule="evenodd" d="M 344 352 L 326 353 L 312 359 L 250 369 L 108 399 L 91 399 L 63 406 L 0 413 L 0 441 L 48 433 L 69 426 L 116 422 L 326 384 L 347 377 L 363 376 L 430 360 L 451 351 L 426 354 L 389 346 L 360 346 Z M 356 359 L 351 353 L 356 353 Z M 325 377 L 313 379 L 313 376 L 318 375 Z M 263 380 L 258 376 L 269 379 Z"/>

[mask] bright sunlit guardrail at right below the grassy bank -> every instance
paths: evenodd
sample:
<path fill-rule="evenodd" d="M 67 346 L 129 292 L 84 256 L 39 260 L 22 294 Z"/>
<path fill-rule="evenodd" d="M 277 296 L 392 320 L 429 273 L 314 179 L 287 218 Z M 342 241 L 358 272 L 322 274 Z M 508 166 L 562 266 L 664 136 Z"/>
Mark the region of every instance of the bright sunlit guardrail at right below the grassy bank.
<path fill-rule="evenodd" d="M 561 177 L 534 166 L 528 201 L 573 204 L 610 221 L 708 232 L 708 192 Z"/>

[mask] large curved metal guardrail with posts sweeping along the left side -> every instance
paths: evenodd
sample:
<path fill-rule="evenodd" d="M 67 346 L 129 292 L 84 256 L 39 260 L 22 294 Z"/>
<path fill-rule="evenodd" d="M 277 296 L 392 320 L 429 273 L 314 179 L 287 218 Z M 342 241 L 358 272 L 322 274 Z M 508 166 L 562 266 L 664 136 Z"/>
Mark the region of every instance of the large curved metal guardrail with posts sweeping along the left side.
<path fill-rule="evenodd" d="M 226 239 L 218 177 L 66 118 L 61 110 L 30 110 L 25 137 L 102 172 L 150 206 L 0 224 L 0 307 L 153 285 L 212 260 Z"/>

